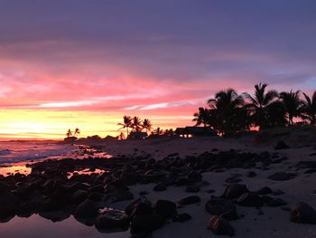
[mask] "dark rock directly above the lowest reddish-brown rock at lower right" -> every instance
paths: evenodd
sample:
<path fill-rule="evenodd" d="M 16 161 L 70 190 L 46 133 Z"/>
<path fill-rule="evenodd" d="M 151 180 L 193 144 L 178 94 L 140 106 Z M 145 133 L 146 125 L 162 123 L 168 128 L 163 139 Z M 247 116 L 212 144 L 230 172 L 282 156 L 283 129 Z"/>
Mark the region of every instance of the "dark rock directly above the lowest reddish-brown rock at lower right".
<path fill-rule="evenodd" d="M 236 220 L 238 218 L 236 205 L 225 198 L 212 196 L 205 205 L 205 209 L 209 214 L 216 214 L 228 220 Z"/>

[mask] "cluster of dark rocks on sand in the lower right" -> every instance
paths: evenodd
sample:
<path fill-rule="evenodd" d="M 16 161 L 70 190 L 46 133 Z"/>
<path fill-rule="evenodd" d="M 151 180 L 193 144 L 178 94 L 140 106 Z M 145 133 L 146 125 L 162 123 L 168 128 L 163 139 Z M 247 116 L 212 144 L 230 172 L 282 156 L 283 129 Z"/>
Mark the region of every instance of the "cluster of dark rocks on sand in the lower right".
<path fill-rule="evenodd" d="M 262 214 L 262 206 L 279 207 L 287 205 L 280 197 L 279 191 L 273 192 L 271 188 L 265 186 L 258 191 L 251 192 L 245 185 L 233 184 L 226 187 L 223 195 L 211 196 L 205 209 L 213 216 L 209 220 L 208 228 L 216 234 L 234 235 L 235 229 L 229 223 L 237 220 L 241 215 L 237 214 L 237 205 L 256 207 Z M 298 203 L 292 208 L 282 207 L 283 210 L 290 210 L 290 221 L 302 224 L 316 224 L 316 211 L 305 203 Z"/>

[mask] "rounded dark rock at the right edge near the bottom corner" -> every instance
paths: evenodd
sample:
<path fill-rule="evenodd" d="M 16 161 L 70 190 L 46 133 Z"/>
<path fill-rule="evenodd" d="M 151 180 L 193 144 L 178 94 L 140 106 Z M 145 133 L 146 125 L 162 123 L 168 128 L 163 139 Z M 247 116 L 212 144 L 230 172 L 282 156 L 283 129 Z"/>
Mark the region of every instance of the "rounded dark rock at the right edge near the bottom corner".
<path fill-rule="evenodd" d="M 290 221 L 298 224 L 316 224 L 316 211 L 306 203 L 293 205 Z"/>

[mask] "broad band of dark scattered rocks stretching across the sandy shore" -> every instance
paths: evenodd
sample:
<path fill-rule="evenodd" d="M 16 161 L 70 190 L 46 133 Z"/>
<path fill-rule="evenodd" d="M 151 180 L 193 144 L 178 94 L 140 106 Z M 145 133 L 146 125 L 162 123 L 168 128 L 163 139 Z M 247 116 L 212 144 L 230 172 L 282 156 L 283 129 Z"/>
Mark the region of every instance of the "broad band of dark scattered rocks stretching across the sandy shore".
<path fill-rule="evenodd" d="M 164 224 L 185 223 L 195 219 L 181 212 L 183 207 L 200 205 L 200 193 L 209 199 L 200 207 L 207 212 L 209 221 L 205 228 L 215 234 L 234 235 L 232 221 L 244 219 L 239 207 L 254 207 L 263 215 L 263 207 L 272 207 L 289 214 L 289 223 L 316 224 L 316 212 L 303 201 L 289 204 L 283 199 L 284 191 L 262 185 L 253 191 L 247 179 L 256 179 L 256 171 L 269 171 L 274 165 L 286 164 L 288 157 L 279 153 L 284 143 L 278 143 L 273 152 L 240 152 L 235 149 L 219 151 L 214 148 L 198 156 L 180 157 L 178 153 L 155 160 L 150 154 L 143 156 L 94 157 L 87 148 L 81 153 L 85 159 L 65 158 L 45 160 L 29 165 L 29 175 L 19 173 L 1 176 L 0 220 L 10 221 L 15 215 L 29 217 L 40 214 L 53 222 L 73 215 L 81 224 L 94 225 L 100 232 L 130 230 L 132 237 L 146 237 Z M 98 151 L 97 147 L 97 152 Z M 300 161 L 294 165 L 296 172 L 272 171 L 266 179 L 288 181 L 300 174 L 311 175 L 316 162 Z M 242 169 L 244 174 L 229 171 Z M 88 174 L 79 171 L 89 171 Z M 96 171 L 105 171 L 95 173 Z M 204 175 L 226 174 L 225 186 L 220 191 L 210 188 Z M 152 185 L 153 191 L 131 192 L 130 186 Z M 174 187 L 187 195 L 155 202 L 147 195 L 160 193 Z M 214 194 L 218 195 L 214 195 Z M 116 203 L 128 201 L 125 209 L 116 209 Z M 204 208 L 202 208 L 204 207 Z M 280 209 L 281 208 L 281 209 Z"/>

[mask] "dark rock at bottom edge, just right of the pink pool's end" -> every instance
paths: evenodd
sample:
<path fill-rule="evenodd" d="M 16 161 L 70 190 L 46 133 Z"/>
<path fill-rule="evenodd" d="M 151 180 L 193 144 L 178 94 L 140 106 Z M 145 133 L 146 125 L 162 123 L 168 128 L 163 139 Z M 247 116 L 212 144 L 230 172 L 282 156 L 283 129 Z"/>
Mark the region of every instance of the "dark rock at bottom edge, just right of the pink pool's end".
<path fill-rule="evenodd" d="M 160 228 L 164 224 L 164 219 L 158 214 L 136 215 L 132 218 L 131 233 L 132 234 L 148 234 Z"/>

